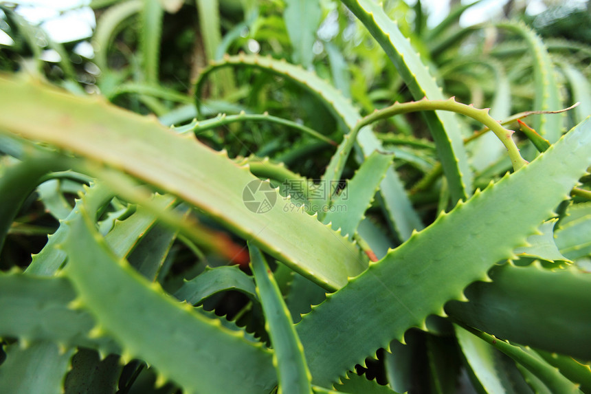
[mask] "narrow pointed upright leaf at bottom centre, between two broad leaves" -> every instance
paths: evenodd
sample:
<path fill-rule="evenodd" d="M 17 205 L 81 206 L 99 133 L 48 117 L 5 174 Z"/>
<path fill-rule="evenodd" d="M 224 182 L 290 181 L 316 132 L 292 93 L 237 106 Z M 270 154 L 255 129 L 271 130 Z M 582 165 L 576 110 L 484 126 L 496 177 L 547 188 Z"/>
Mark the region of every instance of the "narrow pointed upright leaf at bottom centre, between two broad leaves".
<path fill-rule="evenodd" d="M 249 252 L 256 292 L 265 313 L 265 327 L 273 344 L 280 392 L 309 394 L 312 391 L 312 376 L 289 310 L 263 254 L 253 245 L 249 245 Z"/>

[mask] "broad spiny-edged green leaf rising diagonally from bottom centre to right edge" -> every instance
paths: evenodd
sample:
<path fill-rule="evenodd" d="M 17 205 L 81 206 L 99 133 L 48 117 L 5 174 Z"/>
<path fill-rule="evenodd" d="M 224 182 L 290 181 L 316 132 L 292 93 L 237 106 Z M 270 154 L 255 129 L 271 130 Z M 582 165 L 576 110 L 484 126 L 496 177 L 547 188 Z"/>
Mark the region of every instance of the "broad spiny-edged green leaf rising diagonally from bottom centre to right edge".
<path fill-rule="evenodd" d="M 315 384 L 330 384 L 390 340 L 403 340 L 410 327 L 426 329 L 425 318 L 445 315 L 447 300 L 464 298 L 463 289 L 473 281 L 488 280 L 487 270 L 511 257 L 583 175 L 591 162 L 590 129 L 588 118 L 531 164 L 440 215 L 304 316 L 296 327 Z M 571 160 L 563 160 L 566 155 Z M 539 191 L 535 206 L 523 190 Z"/>

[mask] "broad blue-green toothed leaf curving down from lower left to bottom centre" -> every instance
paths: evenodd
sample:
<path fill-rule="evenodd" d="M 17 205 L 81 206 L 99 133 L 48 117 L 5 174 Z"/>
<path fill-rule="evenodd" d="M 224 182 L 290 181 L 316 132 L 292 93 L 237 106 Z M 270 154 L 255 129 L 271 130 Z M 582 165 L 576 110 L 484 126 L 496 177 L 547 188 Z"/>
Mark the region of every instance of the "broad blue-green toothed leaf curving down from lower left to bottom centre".
<path fill-rule="evenodd" d="M 225 329 L 219 320 L 183 307 L 157 283 L 150 287 L 108 249 L 85 206 L 80 214 L 69 223 L 66 272 L 79 303 L 96 316 L 95 331 L 110 333 L 122 345 L 124 362 L 143 359 L 155 366 L 162 380 L 173 380 L 189 393 L 260 393 L 272 388 L 269 351 L 245 340 L 242 332 Z"/>

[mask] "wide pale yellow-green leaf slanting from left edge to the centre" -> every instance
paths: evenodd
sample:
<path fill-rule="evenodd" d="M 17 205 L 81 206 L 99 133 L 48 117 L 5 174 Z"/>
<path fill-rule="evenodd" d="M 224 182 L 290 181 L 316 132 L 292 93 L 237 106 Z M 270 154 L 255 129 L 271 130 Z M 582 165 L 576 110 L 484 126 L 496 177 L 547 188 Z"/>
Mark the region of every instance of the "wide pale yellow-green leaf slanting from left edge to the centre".
<path fill-rule="evenodd" d="M 92 98 L 4 78 L 0 89 L 5 92 L 0 97 L 3 130 L 54 144 L 95 165 L 109 164 L 168 190 L 327 289 L 344 285 L 348 276 L 366 267 L 353 243 L 315 217 L 299 210 L 285 212 L 287 200 L 247 168 L 234 164 L 225 152 L 212 151 L 190 135 L 177 135 L 154 120 Z M 47 104 L 39 107 L 36 100 Z M 30 113 L 43 118 L 43 124 Z M 111 183 L 121 179 L 112 170 L 96 167 L 96 171 L 109 176 Z M 251 182 L 267 190 L 265 198 L 275 199 L 268 212 L 256 213 L 244 204 L 245 188 Z"/>

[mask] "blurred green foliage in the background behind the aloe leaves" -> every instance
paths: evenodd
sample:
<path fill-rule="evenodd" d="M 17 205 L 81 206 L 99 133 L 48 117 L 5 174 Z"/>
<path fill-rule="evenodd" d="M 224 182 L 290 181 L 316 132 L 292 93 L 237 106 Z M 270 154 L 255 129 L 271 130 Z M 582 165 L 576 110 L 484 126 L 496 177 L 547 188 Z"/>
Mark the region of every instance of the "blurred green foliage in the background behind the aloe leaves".
<path fill-rule="evenodd" d="M 317 98 L 289 80 L 250 67 L 227 67 L 208 77 L 197 99 L 194 82 L 211 61 L 219 61 L 225 54 L 260 54 L 313 70 L 353 100 L 362 115 L 394 101 L 412 100 L 392 62 L 342 4 L 304 1 L 308 8 L 300 25 L 298 16 L 290 10 L 292 3 L 94 0 L 86 5 L 56 2 L 49 9 L 40 8 L 43 2 L 3 1 L 0 69 L 26 70 L 76 94 L 101 94 L 120 107 L 153 113 L 166 125 L 186 124 L 195 117 L 212 118 L 218 113 L 266 111 L 335 142 L 348 131 Z M 531 12 L 534 3 L 538 5 L 535 13 Z M 434 4 L 449 6 L 449 11 L 434 14 Z M 487 4 L 491 2 L 389 0 L 384 8 L 419 51 L 446 96 L 456 96 L 460 102 L 476 107 L 493 107 L 497 119 L 537 109 L 533 61 L 525 41 L 487 22 L 523 21 L 544 37 L 559 71 L 562 102 L 564 107 L 571 105 L 575 101 L 572 74 L 590 80 L 590 2 L 511 0 L 487 14 L 482 14 L 487 9 L 480 11 L 476 19 L 487 21 L 474 25 L 480 20 L 471 20 L 475 17 L 470 17 L 470 10 Z M 505 97 L 500 95 L 500 80 L 507 80 L 511 86 Z M 497 102 L 493 102 L 495 98 Z M 582 114 L 580 118 L 589 112 L 588 105 L 575 111 Z M 571 111 L 565 126 L 575 124 L 575 117 Z M 478 124 L 466 124 L 465 136 L 478 128 Z M 430 222 L 443 203 L 441 190 L 425 188 L 424 179 L 430 179 L 426 185 L 432 186 L 434 179 L 441 179 L 437 176 L 441 167 L 437 166 L 434 145 L 421 116 L 411 113 L 384 120 L 376 130 L 395 153 L 397 170 L 411 190 L 411 199 L 425 222 Z M 230 157 L 252 153 L 268 156 L 311 179 L 322 175 L 333 154 L 326 143 L 272 122 L 229 124 L 201 133 L 198 138 L 214 149 L 227 149 Z M 419 138 L 419 142 L 409 144 L 403 138 Z M 479 179 L 488 182 L 509 166 L 506 160 L 497 160 L 498 155 L 481 160 L 482 155 L 475 153 L 478 144 L 486 143 L 473 144 L 469 153 L 477 170 L 476 186 L 484 186 Z M 525 138 L 522 144 L 528 144 Z M 344 178 L 356 167 L 350 159 Z M 33 197 L 30 204 L 35 204 Z M 43 211 L 23 220 L 36 223 L 41 234 L 56 226 Z M 16 237 L 14 241 L 15 245 L 19 241 L 29 243 L 30 238 Z M 41 248 L 44 241 L 40 236 L 39 245 L 18 249 L 26 255 Z M 3 253 L 10 253 L 10 249 L 5 248 Z"/>

